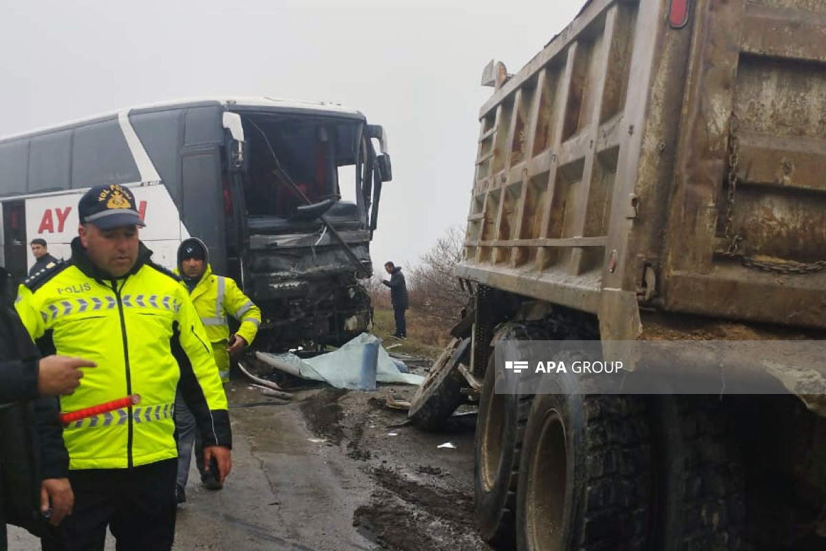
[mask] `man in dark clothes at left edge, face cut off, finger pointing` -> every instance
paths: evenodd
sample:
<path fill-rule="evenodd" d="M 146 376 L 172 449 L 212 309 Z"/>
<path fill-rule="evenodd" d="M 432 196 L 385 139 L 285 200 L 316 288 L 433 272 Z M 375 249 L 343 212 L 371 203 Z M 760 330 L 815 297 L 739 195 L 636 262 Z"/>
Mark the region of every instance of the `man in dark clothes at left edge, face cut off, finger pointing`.
<path fill-rule="evenodd" d="M 62 356 L 40 359 L 14 309 L 15 297 L 17 283 L 0 268 L 2 550 L 7 547 L 7 518 L 32 529 L 38 510 L 51 510 L 51 525 L 58 525 L 71 513 L 74 496 L 65 480 L 69 455 L 63 444 L 57 401 L 53 397 L 71 394 L 83 377 L 79 368 L 94 366 L 91 362 Z M 39 435 L 36 434 L 38 425 Z"/>

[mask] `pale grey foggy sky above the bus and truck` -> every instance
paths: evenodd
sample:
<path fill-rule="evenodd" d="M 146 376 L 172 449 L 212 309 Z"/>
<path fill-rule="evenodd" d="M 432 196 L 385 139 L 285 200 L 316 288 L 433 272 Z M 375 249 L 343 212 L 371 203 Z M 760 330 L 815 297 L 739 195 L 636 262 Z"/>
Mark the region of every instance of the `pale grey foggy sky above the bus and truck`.
<path fill-rule="evenodd" d="M 0 136 L 182 97 L 358 109 L 392 154 L 372 246 L 383 273 L 464 225 L 484 66 L 517 72 L 583 3 L 0 0 Z"/>

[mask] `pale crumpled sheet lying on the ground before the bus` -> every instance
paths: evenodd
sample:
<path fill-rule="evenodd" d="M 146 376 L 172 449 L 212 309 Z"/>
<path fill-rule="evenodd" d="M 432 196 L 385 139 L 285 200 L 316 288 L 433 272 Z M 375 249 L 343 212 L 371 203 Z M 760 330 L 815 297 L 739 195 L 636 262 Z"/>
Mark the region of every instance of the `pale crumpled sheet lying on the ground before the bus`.
<path fill-rule="evenodd" d="M 362 333 L 341 348 L 315 358 L 301 359 L 290 353 L 263 352 L 257 352 L 256 356 L 270 365 L 281 363 L 288 366 L 302 378 L 327 382 L 336 388 L 371 390 L 375 388 L 376 382 L 420 385 L 425 378 L 411 373 L 401 373 L 381 342 L 375 335 Z M 373 347 L 378 349 L 375 372 L 370 359 Z M 375 354 L 374 350 L 372 352 Z"/>

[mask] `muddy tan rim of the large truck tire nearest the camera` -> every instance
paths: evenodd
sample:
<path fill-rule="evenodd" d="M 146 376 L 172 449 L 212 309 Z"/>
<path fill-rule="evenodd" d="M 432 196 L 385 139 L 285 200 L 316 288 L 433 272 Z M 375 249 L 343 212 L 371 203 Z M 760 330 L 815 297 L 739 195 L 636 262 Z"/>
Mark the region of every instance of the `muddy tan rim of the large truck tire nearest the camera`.
<path fill-rule="evenodd" d="M 556 410 L 548 411 L 530 462 L 525 500 L 529 549 L 563 549 L 567 487 L 565 426 Z"/>

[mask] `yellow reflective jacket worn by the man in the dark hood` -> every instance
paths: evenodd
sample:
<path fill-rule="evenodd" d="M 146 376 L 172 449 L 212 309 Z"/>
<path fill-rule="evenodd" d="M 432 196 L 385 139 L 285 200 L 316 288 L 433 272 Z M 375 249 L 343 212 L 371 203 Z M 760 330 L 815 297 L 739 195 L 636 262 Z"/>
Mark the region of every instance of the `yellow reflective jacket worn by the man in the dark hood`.
<path fill-rule="evenodd" d="M 182 282 L 181 285 L 187 289 L 186 283 Z M 233 278 L 212 273 L 211 266 L 207 264 L 189 297 L 195 304 L 198 316 L 201 316 L 210 342 L 230 338 L 230 326 L 227 325 L 226 318 L 229 315 L 241 322 L 235 333 L 244 337 L 247 344 L 253 343 L 261 325 L 261 311 L 244 295 Z"/>

